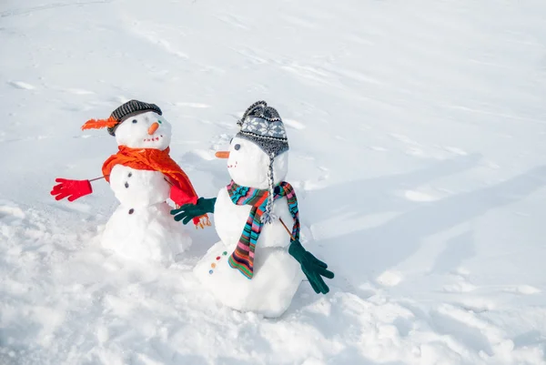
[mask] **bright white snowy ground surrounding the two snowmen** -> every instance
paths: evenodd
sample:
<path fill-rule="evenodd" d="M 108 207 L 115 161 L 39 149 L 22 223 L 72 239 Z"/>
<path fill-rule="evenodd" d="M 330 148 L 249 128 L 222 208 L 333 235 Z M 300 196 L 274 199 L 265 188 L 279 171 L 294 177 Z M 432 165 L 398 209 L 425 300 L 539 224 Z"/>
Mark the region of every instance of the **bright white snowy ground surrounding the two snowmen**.
<path fill-rule="evenodd" d="M 0 55 L 0 364 L 546 364 L 543 0 L 7 0 Z M 106 183 L 49 190 L 100 176 L 115 140 L 79 127 L 133 97 L 206 197 L 278 108 L 329 295 L 221 308 L 212 228 L 168 268 L 99 247 Z"/>

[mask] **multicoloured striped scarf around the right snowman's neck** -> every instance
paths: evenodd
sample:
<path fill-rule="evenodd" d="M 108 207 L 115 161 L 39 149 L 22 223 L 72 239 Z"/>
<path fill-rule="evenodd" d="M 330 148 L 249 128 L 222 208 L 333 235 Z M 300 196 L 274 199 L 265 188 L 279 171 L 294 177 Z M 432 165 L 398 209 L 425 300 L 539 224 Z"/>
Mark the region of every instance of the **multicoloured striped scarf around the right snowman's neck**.
<path fill-rule="evenodd" d="M 252 206 L 241 238 L 238 240 L 237 248 L 228 259 L 229 266 L 238 269 L 248 279 L 252 279 L 254 276 L 254 251 L 264 225 L 262 215 L 268 205 L 269 191 L 268 189 L 241 187 L 232 180 L 227 186 L 227 193 L 234 204 Z M 292 236 L 299 239 L 298 198 L 296 198 L 294 188 L 284 181 L 275 187 L 274 200 L 283 197 L 288 199 L 288 210 L 294 218 Z"/>

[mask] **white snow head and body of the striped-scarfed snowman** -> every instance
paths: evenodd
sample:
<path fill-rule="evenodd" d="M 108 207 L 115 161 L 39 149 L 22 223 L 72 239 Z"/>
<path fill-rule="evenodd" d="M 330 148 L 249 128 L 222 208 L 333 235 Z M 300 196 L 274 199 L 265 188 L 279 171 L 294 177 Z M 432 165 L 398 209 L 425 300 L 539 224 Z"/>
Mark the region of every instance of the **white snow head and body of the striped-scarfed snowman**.
<path fill-rule="evenodd" d="M 258 146 L 236 137 L 229 152 L 227 168 L 236 183 L 268 188 L 268 156 Z M 277 184 L 287 175 L 288 152 L 276 157 L 273 169 Z M 287 199 L 275 200 L 272 212 L 276 218 L 271 224 L 264 224 L 261 230 L 255 250 L 254 276 L 248 279 L 238 269 L 231 268 L 227 259 L 238 245 L 250 209 L 248 205 L 233 203 L 227 188 L 218 192 L 214 213 L 221 240 L 197 263 L 194 273 L 227 307 L 275 318 L 288 309 L 303 279 L 298 261 L 288 254 L 290 236 L 279 220 L 291 229 L 294 219 L 288 211 Z"/>

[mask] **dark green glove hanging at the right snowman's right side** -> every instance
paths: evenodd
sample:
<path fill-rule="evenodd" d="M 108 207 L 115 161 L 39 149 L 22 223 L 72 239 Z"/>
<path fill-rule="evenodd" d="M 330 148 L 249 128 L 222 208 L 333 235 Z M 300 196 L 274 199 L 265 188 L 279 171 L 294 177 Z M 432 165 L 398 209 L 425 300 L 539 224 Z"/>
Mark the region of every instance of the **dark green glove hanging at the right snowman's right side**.
<path fill-rule="evenodd" d="M 290 244 L 288 253 L 299 262 L 301 270 L 317 294 L 326 294 L 329 292 L 329 287 L 322 277 L 333 279 L 334 273 L 326 269 L 328 265 L 325 262 L 320 261 L 312 253 L 306 251 L 299 241 L 293 241 Z"/>

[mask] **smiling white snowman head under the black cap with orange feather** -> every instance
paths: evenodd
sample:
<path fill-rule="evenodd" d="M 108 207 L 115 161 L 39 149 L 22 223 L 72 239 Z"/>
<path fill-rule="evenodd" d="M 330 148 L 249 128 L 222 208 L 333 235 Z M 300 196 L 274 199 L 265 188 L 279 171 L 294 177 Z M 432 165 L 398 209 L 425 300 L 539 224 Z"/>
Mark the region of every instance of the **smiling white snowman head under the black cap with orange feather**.
<path fill-rule="evenodd" d="M 166 149 L 170 144 L 171 125 L 156 112 L 148 111 L 127 117 L 115 130 L 119 146 Z"/>

